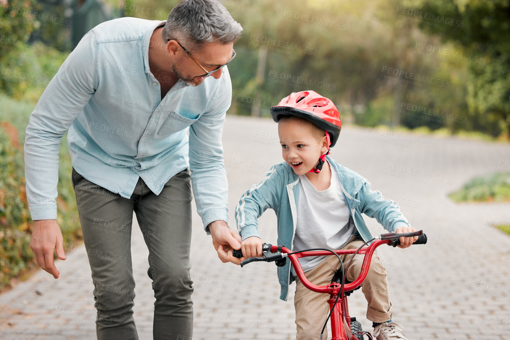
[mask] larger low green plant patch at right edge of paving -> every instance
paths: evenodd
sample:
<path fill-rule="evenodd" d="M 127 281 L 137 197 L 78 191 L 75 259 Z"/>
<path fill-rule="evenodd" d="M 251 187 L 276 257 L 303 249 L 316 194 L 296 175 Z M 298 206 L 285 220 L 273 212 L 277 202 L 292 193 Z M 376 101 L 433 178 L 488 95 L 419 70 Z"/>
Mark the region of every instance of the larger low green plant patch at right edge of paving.
<path fill-rule="evenodd" d="M 460 191 L 450 194 L 450 198 L 456 202 L 510 201 L 510 174 L 475 177 Z"/>

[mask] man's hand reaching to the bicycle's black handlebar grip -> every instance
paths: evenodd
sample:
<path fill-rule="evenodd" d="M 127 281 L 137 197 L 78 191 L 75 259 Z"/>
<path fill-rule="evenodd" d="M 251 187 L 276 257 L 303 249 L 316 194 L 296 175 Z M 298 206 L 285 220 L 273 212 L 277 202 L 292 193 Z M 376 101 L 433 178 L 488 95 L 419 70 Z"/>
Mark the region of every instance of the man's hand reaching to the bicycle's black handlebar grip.
<path fill-rule="evenodd" d="M 240 265 L 244 259 L 232 255 L 232 249 L 241 248 L 241 235 L 230 229 L 225 221 L 218 220 L 208 225 L 211 236 L 213 237 L 214 249 L 218 252 L 218 257 L 223 263 L 232 262 Z"/>

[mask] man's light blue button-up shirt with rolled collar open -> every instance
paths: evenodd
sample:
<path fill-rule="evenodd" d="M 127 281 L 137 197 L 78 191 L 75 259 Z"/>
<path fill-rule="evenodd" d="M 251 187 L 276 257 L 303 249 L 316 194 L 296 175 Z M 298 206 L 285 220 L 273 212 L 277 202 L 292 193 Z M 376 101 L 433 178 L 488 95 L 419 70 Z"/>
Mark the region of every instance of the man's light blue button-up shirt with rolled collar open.
<path fill-rule="evenodd" d="M 142 177 L 158 195 L 190 167 L 204 226 L 228 221 L 221 135 L 230 75 L 224 67 L 220 79 L 209 76 L 197 87 L 179 80 L 162 100 L 148 48 L 165 21 L 125 17 L 97 25 L 44 90 L 24 143 L 33 220 L 57 218 L 59 145 L 69 129 L 72 165 L 86 179 L 130 198 Z"/>

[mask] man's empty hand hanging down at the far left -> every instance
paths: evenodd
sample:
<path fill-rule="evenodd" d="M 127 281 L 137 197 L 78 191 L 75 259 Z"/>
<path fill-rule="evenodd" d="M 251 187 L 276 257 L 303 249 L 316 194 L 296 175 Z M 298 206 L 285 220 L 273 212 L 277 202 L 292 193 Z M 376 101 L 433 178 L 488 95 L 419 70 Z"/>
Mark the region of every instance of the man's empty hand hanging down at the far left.
<path fill-rule="evenodd" d="M 35 254 L 37 265 L 52 274 L 56 279 L 60 272 L 54 265 L 53 252 L 57 249 L 58 258 L 65 260 L 63 242 L 62 231 L 57 224 L 57 220 L 34 221 L 30 248 Z"/>

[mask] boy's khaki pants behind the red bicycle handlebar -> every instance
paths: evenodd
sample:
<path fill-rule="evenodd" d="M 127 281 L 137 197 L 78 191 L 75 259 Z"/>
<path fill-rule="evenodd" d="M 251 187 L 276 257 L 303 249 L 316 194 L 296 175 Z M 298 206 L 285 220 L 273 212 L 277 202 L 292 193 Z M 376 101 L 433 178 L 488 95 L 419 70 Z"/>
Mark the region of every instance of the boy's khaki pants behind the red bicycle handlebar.
<path fill-rule="evenodd" d="M 363 241 L 353 236 L 350 242 L 342 249 L 358 249 Z M 340 255 L 344 266 L 347 266 L 352 254 Z M 347 270 L 346 279 L 354 281 L 361 272 L 361 265 L 365 255 L 356 254 Z M 340 268 L 340 262 L 335 255 L 326 257 L 317 267 L 305 272 L 307 279 L 317 285 L 326 285 Z M 362 292 L 368 302 L 367 319 L 373 322 L 385 322 L 391 319 L 392 306 L 389 298 L 386 269 L 380 263 L 377 254 L 372 255 L 372 261 L 367 277 L 362 284 Z M 305 287 L 296 277 L 296 294 L 294 306 L 296 308 L 297 340 L 319 339 L 322 326 L 329 313 L 327 300 L 329 294 L 316 293 Z M 327 338 L 327 326 L 324 329 L 323 339 Z"/>

